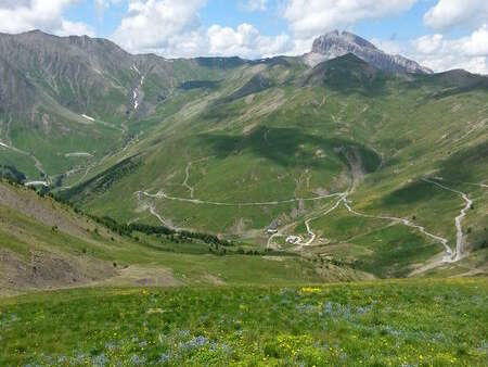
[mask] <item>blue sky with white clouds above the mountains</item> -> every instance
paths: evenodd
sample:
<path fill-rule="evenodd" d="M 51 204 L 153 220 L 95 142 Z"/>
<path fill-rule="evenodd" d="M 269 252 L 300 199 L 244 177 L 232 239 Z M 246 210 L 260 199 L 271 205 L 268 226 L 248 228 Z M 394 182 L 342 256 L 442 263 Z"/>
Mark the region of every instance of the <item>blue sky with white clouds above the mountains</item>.
<path fill-rule="evenodd" d="M 0 0 L 0 31 L 113 40 L 165 58 L 260 59 L 352 31 L 436 72 L 488 74 L 488 0 Z"/>

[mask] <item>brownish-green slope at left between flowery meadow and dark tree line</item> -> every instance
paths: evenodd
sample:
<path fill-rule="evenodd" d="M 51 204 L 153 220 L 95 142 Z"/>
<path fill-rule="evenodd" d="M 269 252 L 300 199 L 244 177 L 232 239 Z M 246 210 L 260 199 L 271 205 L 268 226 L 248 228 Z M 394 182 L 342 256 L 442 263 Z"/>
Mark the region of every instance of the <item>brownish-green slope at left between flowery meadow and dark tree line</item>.
<path fill-rule="evenodd" d="M 286 254 L 249 256 L 229 249 L 228 255 L 220 256 L 209 254 L 208 245 L 198 241 L 174 243 L 142 233 L 136 241 L 30 190 L 0 184 L 0 194 L 2 293 L 93 282 L 296 284 L 364 277 L 347 267 L 324 267 Z"/>

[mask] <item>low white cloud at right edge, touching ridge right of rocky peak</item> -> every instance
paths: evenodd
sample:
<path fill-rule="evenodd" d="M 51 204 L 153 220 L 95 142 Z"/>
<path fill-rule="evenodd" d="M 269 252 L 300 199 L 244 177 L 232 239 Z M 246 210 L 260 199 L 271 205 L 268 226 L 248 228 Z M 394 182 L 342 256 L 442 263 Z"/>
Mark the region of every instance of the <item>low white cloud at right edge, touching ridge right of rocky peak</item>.
<path fill-rule="evenodd" d="M 484 24 L 470 36 L 458 39 L 447 39 L 440 34 L 420 37 L 411 41 L 410 53 L 436 72 L 464 68 L 488 74 L 488 26 Z"/>

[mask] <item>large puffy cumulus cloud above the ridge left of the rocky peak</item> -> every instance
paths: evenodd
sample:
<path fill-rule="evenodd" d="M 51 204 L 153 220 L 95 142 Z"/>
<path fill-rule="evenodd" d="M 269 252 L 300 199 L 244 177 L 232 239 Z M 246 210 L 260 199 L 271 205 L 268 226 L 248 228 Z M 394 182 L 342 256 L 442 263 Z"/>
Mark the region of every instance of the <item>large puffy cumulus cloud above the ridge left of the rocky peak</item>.
<path fill-rule="evenodd" d="M 261 58 L 290 48 L 286 35 L 264 36 L 249 24 L 236 28 L 205 28 L 198 11 L 203 0 L 132 0 L 113 39 L 131 52 L 155 52 L 168 58 L 222 55 Z"/>

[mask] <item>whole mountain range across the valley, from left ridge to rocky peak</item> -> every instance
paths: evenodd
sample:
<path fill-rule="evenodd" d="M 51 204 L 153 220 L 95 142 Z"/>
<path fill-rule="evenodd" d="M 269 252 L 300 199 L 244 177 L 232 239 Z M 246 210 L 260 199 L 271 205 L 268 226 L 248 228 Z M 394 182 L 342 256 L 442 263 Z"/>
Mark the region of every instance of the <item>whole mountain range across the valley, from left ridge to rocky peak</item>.
<path fill-rule="evenodd" d="M 0 172 L 98 217 L 377 277 L 485 271 L 487 101 L 486 76 L 346 31 L 256 61 L 3 34 Z"/>

